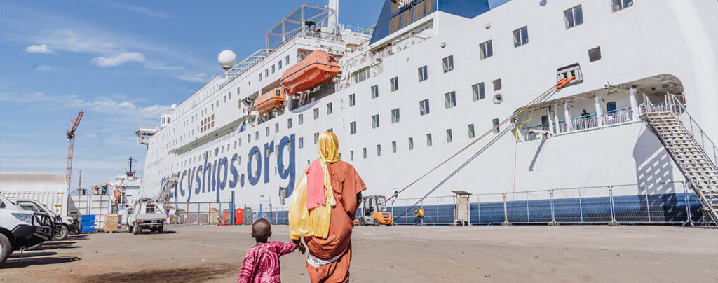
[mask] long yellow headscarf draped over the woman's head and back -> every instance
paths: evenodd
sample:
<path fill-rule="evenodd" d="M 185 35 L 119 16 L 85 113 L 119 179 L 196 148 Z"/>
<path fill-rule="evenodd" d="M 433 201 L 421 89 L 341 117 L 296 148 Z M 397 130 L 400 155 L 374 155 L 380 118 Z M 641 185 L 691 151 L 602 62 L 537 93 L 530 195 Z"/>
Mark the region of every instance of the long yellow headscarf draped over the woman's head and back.
<path fill-rule="evenodd" d="M 327 238 L 329 236 L 329 224 L 332 218 L 332 207 L 336 206 L 334 193 L 332 192 L 332 179 L 327 168 L 327 163 L 339 161 L 339 140 L 337 135 L 330 132 L 322 133 L 317 139 L 317 150 L 320 157 L 317 158 L 324 173 L 324 190 L 327 203 L 325 206 L 312 208 L 307 211 L 307 168 L 302 171 L 297 187 L 292 193 L 292 203 L 289 205 L 289 236 L 293 240 L 304 236 L 317 236 Z"/>

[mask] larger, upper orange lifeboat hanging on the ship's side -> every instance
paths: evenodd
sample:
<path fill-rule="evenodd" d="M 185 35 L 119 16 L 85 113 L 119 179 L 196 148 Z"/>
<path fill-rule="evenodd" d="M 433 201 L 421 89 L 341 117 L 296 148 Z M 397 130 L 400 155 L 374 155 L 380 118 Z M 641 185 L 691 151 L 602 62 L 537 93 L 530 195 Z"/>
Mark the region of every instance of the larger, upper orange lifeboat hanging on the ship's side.
<path fill-rule="evenodd" d="M 287 95 L 294 95 L 330 82 L 337 73 L 337 61 L 327 52 L 314 50 L 307 58 L 286 69 L 281 75 L 281 87 Z"/>

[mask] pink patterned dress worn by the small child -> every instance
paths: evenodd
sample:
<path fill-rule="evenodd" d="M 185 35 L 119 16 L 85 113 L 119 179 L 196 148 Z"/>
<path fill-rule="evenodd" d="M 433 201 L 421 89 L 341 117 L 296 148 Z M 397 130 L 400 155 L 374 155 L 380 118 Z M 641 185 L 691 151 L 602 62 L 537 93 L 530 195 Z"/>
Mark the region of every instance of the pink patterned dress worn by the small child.
<path fill-rule="evenodd" d="M 271 241 L 247 250 L 237 283 L 281 282 L 279 256 L 297 249 L 294 243 Z"/>

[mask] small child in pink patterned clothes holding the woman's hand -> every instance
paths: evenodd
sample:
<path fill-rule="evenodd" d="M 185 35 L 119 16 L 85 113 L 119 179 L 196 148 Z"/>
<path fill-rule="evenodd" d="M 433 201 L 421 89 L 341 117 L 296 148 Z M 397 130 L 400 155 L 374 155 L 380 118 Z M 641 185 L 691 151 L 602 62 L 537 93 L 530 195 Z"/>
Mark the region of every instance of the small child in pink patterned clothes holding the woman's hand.
<path fill-rule="evenodd" d="M 259 219 L 252 224 L 252 238 L 257 244 L 247 250 L 244 263 L 239 272 L 237 283 L 244 282 L 281 282 L 279 276 L 279 256 L 289 254 L 294 249 L 304 254 L 304 245 L 299 241 L 282 243 L 281 241 L 267 242 L 271 236 L 271 224 L 266 219 Z"/>

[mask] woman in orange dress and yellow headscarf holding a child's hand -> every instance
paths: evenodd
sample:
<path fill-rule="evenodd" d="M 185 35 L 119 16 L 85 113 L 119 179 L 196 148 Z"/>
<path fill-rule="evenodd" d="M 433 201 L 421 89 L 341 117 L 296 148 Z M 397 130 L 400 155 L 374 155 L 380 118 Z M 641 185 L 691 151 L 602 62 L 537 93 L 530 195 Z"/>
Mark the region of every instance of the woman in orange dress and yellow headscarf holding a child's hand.
<path fill-rule="evenodd" d="M 307 244 L 307 274 L 312 282 L 347 282 L 354 228 L 364 181 L 339 160 L 334 133 L 317 140 L 319 158 L 299 177 L 289 208 L 289 234 Z"/>

